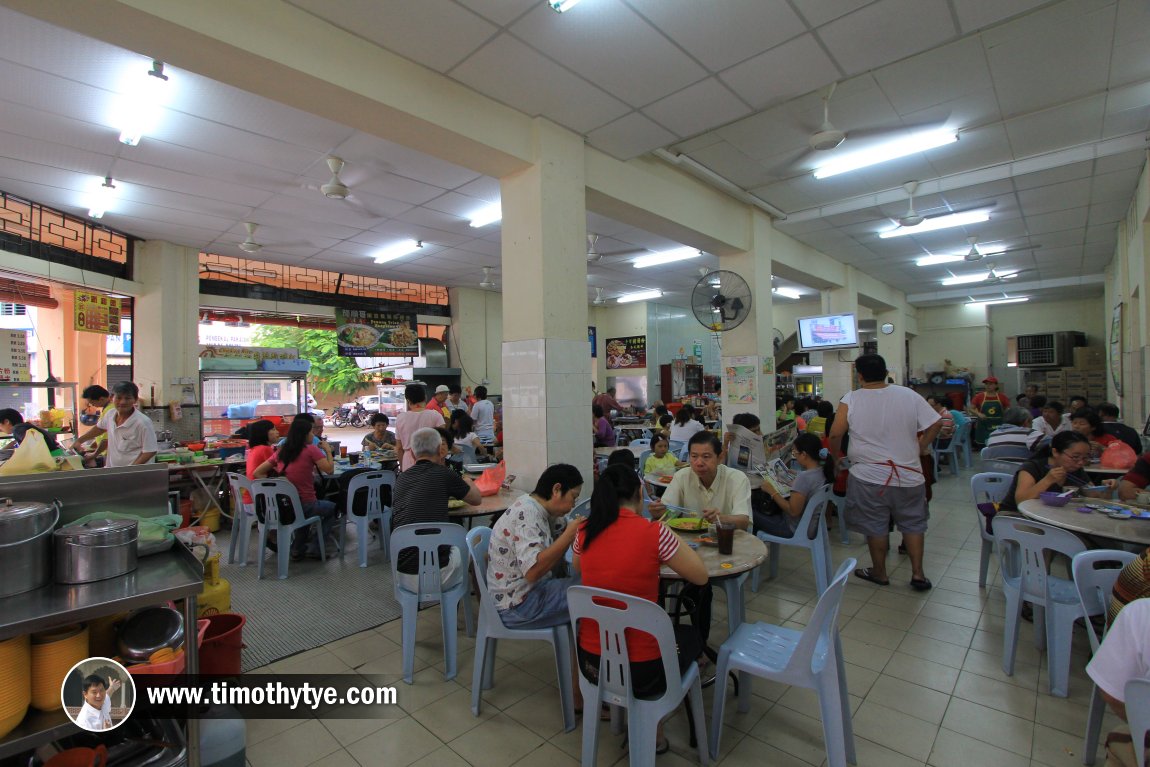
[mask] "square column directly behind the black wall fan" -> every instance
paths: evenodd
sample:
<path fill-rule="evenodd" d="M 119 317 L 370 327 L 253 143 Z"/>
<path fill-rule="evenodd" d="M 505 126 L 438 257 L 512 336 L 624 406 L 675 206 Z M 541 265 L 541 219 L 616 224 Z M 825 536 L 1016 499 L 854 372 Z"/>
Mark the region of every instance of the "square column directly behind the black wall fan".
<path fill-rule="evenodd" d="M 762 431 L 775 428 L 775 358 L 772 333 L 774 294 L 770 291 L 770 237 L 766 214 L 751 213 L 751 250 L 719 259 L 719 268 L 734 271 L 751 286 L 751 312 L 738 327 L 720 333 L 722 365 L 722 422 L 737 413 L 753 413 Z M 747 378 L 747 374 L 751 377 Z M 747 400 L 753 396 L 753 401 Z"/>

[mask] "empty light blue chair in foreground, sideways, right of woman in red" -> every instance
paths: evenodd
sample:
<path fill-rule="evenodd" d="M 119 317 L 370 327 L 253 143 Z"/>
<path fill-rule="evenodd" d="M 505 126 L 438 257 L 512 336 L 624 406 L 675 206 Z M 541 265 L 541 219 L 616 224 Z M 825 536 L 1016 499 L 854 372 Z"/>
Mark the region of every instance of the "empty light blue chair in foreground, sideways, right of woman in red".
<path fill-rule="evenodd" d="M 752 676 L 816 691 L 828 766 L 854 764 L 854 733 L 837 626 L 846 578 L 856 565 L 858 561 L 853 558 L 843 562 L 830 585 L 819 597 L 819 604 L 802 631 L 772 623 L 744 623 L 719 647 L 714 710 L 711 714 L 713 759 L 719 758 L 722 737 L 727 675 L 737 672 L 741 713 L 751 707 Z"/>

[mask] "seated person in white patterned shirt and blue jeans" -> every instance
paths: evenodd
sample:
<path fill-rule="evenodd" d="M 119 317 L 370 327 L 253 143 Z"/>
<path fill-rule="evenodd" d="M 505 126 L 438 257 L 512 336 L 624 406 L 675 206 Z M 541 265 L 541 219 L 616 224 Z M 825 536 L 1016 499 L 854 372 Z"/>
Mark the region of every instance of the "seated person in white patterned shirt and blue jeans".
<path fill-rule="evenodd" d="M 491 528 L 488 547 L 488 590 L 504 626 L 538 629 L 561 626 L 567 614 L 567 588 L 577 578 L 552 577 L 575 540 L 580 520 L 567 521 L 583 490 L 574 466 L 544 469 L 535 490 L 521 496 Z"/>

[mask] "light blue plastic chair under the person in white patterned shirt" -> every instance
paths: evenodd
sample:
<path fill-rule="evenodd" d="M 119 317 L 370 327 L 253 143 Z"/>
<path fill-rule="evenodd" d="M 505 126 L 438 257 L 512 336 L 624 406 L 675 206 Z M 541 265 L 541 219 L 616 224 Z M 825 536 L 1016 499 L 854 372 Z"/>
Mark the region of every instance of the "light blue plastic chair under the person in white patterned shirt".
<path fill-rule="evenodd" d="M 488 592 L 488 545 L 491 528 L 473 528 L 467 532 L 467 549 L 471 555 L 475 581 L 480 588 L 480 621 L 475 635 L 475 670 L 471 676 L 471 713 L 480 715 L 483 690 L 494 684 L 496 647 L 499 639 L 537 639 L 550 642 L 555 651 L 555 674 L 559 677 L 559 699 L 564 712 L 564 731 L 575 729 L 575 693 L 572 690 L 572 643 L 567 626 L 545 629 L 512 629 L 504 626 L 491 595 Z M 597 719 L 593 714 L 590 719 Z"/>

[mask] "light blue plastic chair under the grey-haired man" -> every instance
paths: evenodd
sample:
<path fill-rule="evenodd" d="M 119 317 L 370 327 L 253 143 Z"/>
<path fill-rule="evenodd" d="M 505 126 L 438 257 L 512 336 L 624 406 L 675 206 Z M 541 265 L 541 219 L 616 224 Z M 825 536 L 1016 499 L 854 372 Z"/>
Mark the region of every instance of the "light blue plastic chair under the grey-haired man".
<path fill-rule="evenodd" d="M 431 522 L 422 524 L 405 524 L 391 534 L 391 584 L 396 601 L 404 609 L 404 681 L 412 683 L 415 673 L 415 621 L 419 619 L 420 603 L 439 603 L 443 609 L 443 657 L 445 680 L 457 675 L 455 643 L 455 608 L 463 603 L 463 622 L 470 634 L 471 599 L 467 582 L 467 540 L 466 531 L 458 524 Z M 459 582 L 447 589 L 443 588 L 439 573 L 439 546 L 452 546 L 459 550 Z M 400 582 L 399 554 L 405 549 L 419 550 L 419 591 L 409 591 Z M 446 563 L 446 562 L 444 562 Z"/>

